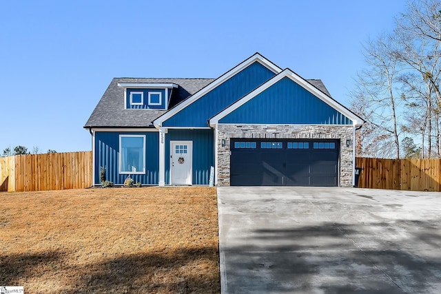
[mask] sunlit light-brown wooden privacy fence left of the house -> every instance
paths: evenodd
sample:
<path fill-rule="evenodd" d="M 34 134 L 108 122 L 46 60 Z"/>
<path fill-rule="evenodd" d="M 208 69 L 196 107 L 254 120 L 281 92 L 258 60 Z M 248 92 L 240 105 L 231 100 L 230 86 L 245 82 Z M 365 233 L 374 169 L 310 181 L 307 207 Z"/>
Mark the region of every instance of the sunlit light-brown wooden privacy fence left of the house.
<path fill-rule="evenodd" d="M 92 151 L 0 158 L 0 191 L 81 189 L 92 185 Z"/>

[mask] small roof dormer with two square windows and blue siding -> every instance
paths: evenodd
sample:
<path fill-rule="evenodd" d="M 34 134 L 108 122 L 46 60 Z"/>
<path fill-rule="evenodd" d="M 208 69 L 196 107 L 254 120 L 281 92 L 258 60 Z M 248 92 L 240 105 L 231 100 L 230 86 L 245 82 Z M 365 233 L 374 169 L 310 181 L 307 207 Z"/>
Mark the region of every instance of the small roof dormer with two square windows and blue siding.
<path fill-rule="evenodd" d="M 174 83 L 118 83 L 124 89 L 124 109 L 168 109 Z"/>

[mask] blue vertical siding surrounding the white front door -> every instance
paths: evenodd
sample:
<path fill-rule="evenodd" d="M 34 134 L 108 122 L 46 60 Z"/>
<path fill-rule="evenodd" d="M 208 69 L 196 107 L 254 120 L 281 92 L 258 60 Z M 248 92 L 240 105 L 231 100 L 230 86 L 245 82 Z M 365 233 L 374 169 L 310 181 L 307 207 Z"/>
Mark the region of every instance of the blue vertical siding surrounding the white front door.
<path fill-rule="evenodd" d="M 209 184 L 209 169 L 214 167 L 212 129 L 169 129 L 165 137 L 165 184 L 170 184 L 170 141 L 193 141 L 193 185 Z"/>

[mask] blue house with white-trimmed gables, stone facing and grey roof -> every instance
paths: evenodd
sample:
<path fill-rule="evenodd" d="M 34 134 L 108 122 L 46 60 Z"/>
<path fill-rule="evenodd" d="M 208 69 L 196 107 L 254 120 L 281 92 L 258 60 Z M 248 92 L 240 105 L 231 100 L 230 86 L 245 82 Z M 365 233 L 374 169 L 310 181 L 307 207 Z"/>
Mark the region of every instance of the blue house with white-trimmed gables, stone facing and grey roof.
<path fill-rule="evenodd" d="M 114 78 L 85 129 L 94 185 L 353 185 L 362 118 L 256 53 L 216 79 Z"/>

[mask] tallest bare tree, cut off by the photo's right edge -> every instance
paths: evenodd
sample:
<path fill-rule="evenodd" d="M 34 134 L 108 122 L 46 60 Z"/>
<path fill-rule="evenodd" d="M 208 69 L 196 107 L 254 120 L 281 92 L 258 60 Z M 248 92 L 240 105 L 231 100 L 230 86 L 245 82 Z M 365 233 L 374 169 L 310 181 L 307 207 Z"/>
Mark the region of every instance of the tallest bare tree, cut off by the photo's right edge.
<path fill-rule="evenodd" d="M 422 156 L 424 156 L 424 141 L 427 140 L 429 158 L 433 153 L 439 154 L 440 151 L 440 11 L 440 1 L 424 0 L 409 3 L 407 12 L 396 20 L 395 30 L 398 44 L 396 55 L 402 63 L 402 69 L 419 75 L 420 85 L 409 83 L 406 78 L 402 81 L 418 101 L 416 104 L 420 103 L 426 108 L 423 116 L 425 128 L 422 133 Z M 435 152 L 433 152 L 433 138 L 435 138 Z"/>

